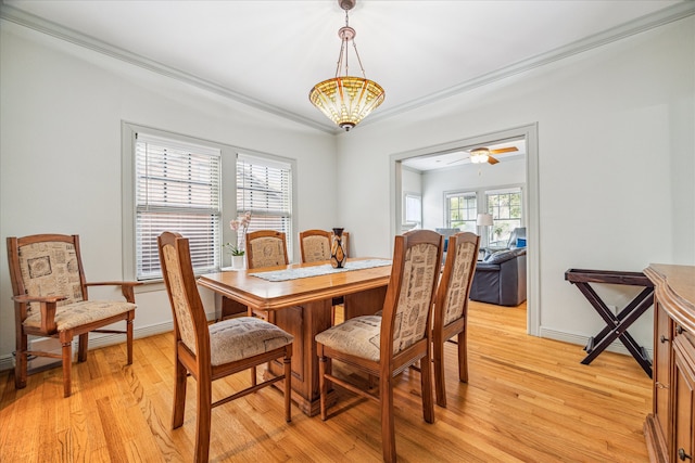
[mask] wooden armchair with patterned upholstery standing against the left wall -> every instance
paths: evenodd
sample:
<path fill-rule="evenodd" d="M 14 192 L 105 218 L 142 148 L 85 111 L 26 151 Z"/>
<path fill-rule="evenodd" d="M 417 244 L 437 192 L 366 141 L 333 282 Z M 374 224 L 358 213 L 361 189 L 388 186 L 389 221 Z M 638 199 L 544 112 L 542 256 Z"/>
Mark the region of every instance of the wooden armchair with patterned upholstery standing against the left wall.
<path fill-rule="evenodd" d="M 14 300 L 16 359 L 14 387 L 26 387 L 27 357 L 51 357 L 63 363 L 63 395 L 72 394 L 73 338 L 77 361 L 87 360 L 89 333 L 126 335 L 127 364 L 132 363 L 132 320 L 137 282 L 87 282 L 78 235 L 36 234 L 8 237 L 8 260 Z M 90 300 L 89 286 L 121 286 L 125 300 Z M 105 326 L 126 322 L 125 331 Z M 27 336 L 60 339 L 61 355 L 29 350 Z"/>

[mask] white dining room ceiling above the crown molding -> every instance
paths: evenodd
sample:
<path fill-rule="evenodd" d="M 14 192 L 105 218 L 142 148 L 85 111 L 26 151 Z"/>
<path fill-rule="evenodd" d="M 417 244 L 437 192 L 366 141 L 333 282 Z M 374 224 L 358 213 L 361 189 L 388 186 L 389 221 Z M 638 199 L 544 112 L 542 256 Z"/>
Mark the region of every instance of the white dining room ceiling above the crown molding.
<path fill-rule="evenodd" d="M 355 42 L 366 76 L 386 90 L 362 124 L 694 10 L 686 0 L 357 0 L 350 13 Z M 312 87 L 336 72 L 344 25 L 336 0 L 2 0 L 0 16 L 338 130 L 308 102 Z"/>

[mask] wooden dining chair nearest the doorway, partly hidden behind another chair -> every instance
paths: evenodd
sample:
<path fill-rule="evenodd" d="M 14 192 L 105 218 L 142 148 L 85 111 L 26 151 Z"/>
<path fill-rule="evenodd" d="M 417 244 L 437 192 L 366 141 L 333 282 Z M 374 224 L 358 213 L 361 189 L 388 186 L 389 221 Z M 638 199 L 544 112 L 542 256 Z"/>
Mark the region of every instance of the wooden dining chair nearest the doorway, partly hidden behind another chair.
<path fill-rule="evenodd" d="M 458 380 L 468 382 L 468 295 L 476 272 L 480 236 L 475 233 L 456 233 L 448 237 L 444 271 L 434 299 L 432 322 L 432 357 L 434 363 L 434 390 L 437 404 L 446 407 L 444 385 L 444 343 L 457 335 Z"/>

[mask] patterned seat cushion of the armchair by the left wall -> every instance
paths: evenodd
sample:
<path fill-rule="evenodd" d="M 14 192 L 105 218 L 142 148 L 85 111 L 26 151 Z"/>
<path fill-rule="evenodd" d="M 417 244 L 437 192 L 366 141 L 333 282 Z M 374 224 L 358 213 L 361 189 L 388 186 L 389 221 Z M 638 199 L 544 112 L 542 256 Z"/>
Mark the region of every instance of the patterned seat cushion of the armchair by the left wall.
<path fill-rule="evenodd" d="M 87 323 L 128 312 L 137 307 L 137 305 L 125 300 L 80 300 L 79 303 L 59 306 L 55 309 L 55 325 L 58 331 L 72 330 Z M 41 327 L 41 313 L 38 310 L 34 310 L 34 313 L 24 320 L 24 326 Z"/>

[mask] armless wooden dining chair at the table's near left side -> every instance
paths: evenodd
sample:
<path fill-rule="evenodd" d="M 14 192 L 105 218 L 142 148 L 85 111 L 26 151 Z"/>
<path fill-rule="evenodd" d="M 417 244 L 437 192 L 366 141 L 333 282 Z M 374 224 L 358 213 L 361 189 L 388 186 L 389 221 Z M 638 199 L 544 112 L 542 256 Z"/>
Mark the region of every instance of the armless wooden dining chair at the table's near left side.
<path fill-rule="evenodd" d="M 175 385 L 172 428 L 184 424 L 186 384 L 190 373 L 198 384 L 195 462 L 210 453 L 212 409 L 285 381 L 285 420 L 291 421 L 293 337 L 276 325 L 253 317 L 208 324 L 195 285 L 188 239 L 164 232 L 157 237 L 160 262 L 174 316 Z M 282 358 L 283 374 L 212 401 L 212 382 Z"/>

